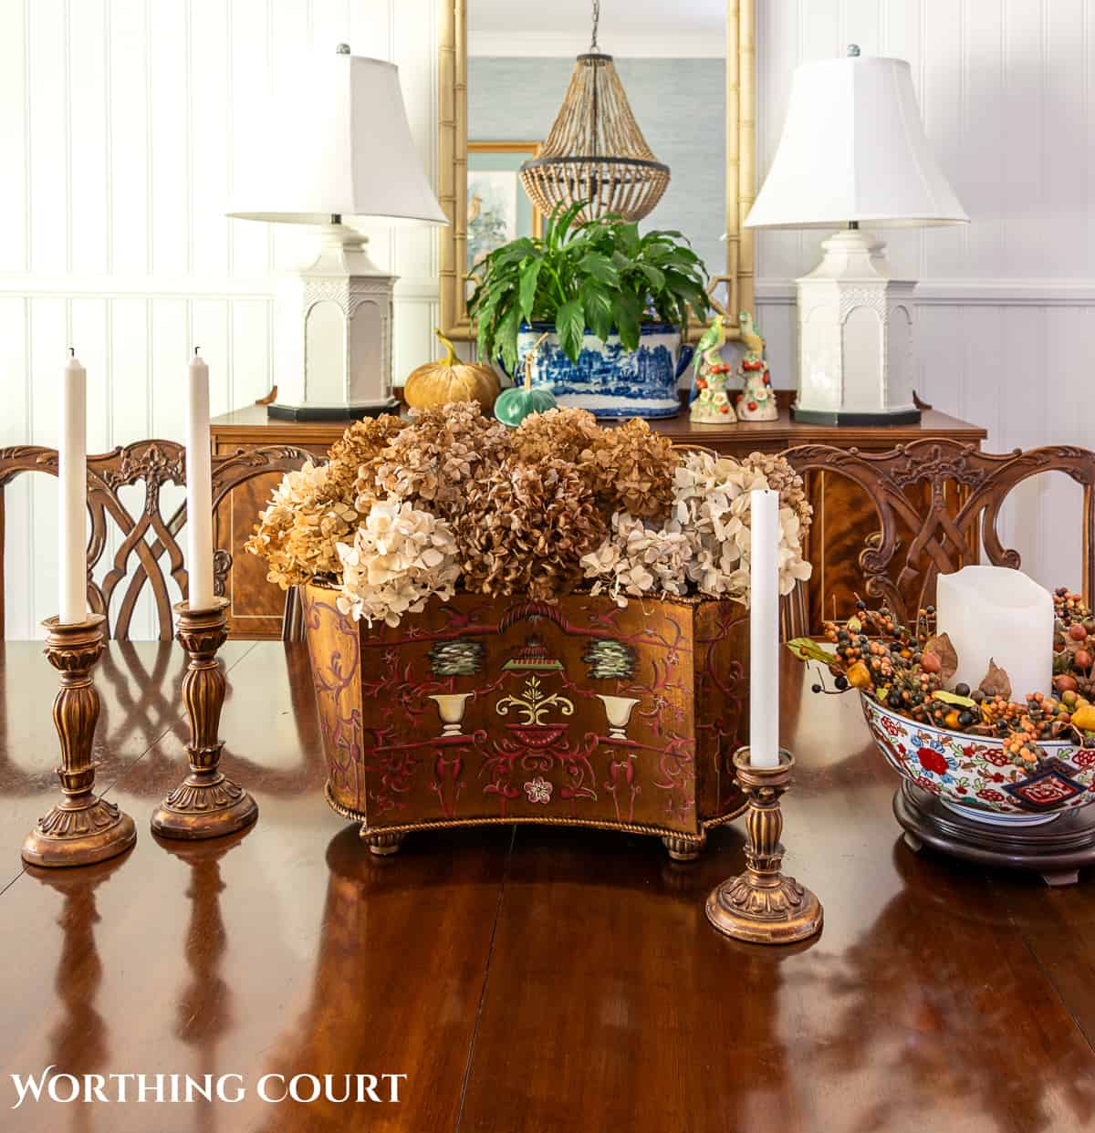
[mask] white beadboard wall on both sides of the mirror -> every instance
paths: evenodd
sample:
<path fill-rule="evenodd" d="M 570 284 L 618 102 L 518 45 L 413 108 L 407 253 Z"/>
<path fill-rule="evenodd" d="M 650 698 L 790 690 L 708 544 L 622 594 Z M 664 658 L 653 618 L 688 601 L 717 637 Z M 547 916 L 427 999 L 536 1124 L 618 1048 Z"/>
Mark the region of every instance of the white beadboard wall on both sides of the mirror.
<path fill-rule="evenodd" d="M 474 0 L 472 0 L 474 3 Z M 1095 0 L 757 0 L 758 165 L 790 74 L 842 52 L 913 65 L 927 130 L 973 224 L 902 232 L 922 283 L 919 392 L 979 421 L 990 448 L 1095 446 Z M 194 343 L 214 412 L 264 394 L 273 271 L 291 233 L 223 218 L 232 138 L 282 53 L 349 42 L 394 60 L 435 171 L 436 0 L 0 0 L 0 444 L 56 443 L 57 375 L 88 368 L 90 446 L 180 438 Z M 432 350 L 436 242 L 377 232 L 401 276 L 396 370 Z M 759 317 L 776 384 L 793 384 L 790 280 L 815 238 L 762 233 Z M 1036 483 L 1011 542 L 1046 583 L 1078 583 L 1079 492 Z M 56 489 L 7 489 L 7 632 L 54 612 Z M 151 621 L 146 627 L 151 633 Z"/>

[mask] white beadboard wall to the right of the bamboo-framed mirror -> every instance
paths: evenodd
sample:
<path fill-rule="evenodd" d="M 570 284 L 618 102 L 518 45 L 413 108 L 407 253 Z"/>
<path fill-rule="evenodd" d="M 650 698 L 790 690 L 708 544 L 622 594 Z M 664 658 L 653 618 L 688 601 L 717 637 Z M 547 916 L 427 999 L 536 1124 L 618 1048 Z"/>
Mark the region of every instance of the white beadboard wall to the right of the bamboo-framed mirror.
<path fill-rule="evenodd" d="M 988 451 L 1095 448 L 1095 0 L 758 0 L 761 176 L 792 70 L 849 43 L 909 60 L 971 220 L 889 236 L 894 267 L 922 281 L 920 397 L 984 425 Z M 779 385 L 795 385 L 790 281 L 817 262 L 817 241 L 758 235 L 759 320 Z M 1079 487 L 1051 474 L 1015 495 L 1004 531 L 1024 569 L 1078 587 Z"/>

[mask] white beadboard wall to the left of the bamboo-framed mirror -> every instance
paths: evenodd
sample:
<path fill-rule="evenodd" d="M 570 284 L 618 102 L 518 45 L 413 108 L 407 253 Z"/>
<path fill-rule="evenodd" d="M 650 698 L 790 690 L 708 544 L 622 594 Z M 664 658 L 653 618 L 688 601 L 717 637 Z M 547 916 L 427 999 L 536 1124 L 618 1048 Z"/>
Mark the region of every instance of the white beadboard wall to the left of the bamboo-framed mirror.
<path fill-rule="evenodd" d="M 0 0 L 0 445 L 57 443 L 66 347 L 88 374 L 88 451 L 182 438 L 195 344 L 214 414 L 273 381 L 274 272 L 291 230 L 229 221 L 234 137 L 271 68 L 347 42 L 399 65 L 436 171 L 438 0 Z M 275 73 L 275 71 L 274 71 Z M 379 230 L 399 274 L 396 373 L 431 349 L 431 230 Z M 7 636 L 56 613 L 56 485 L 7 488 Z M 152 633 L 151 619 L 136 633 Z"/>

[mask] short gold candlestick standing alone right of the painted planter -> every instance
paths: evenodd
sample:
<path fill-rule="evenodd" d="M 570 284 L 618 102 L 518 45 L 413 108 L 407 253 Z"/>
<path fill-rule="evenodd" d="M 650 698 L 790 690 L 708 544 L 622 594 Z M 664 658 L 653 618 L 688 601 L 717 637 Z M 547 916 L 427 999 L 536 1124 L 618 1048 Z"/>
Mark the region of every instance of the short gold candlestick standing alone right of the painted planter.
<path fill-rule="evenodd" d="M 784 877 L 780 795 L 791 785 L 795 757 L 780 751 L 776 767 L 752 767 L 749 749 L 733 755 L 738 784 L 749 799 L 745 828 L 746 871 L 707 897 L 707 920 L 720 932 L 752 944 L 791 944 L 822 927 L 822 906 L 809 889 Z"/>

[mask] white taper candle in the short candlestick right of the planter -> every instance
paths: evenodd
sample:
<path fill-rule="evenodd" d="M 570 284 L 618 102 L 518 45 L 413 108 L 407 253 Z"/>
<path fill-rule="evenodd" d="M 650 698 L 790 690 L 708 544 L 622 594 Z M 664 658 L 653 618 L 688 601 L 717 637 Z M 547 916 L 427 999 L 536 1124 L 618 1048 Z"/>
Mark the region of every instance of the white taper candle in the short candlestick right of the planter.
<path fill-rule="evenodd" d="M 749 764 L 780 763 L 780 494 L 749 496 Z"/>

